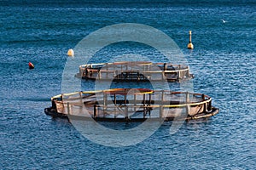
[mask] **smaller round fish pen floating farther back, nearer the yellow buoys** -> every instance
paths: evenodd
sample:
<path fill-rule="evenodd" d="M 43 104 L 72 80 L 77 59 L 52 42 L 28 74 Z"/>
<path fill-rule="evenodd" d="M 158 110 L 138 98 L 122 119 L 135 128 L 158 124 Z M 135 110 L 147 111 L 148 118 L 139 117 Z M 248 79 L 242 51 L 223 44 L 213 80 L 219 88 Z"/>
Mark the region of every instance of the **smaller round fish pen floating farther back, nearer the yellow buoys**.
<path fill-rule="evenodd" d="M 76 77 L 112 81 L 178 81 L 192 78 L 188 65 L 124 61 L 80 65 Z"/>

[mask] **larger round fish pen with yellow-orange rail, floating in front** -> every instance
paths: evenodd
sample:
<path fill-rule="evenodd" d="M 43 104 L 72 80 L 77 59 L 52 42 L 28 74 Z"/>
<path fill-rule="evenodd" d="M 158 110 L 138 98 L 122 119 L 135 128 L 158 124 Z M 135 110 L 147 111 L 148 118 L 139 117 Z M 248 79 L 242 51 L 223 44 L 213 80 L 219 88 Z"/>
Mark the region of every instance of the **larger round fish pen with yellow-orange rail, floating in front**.
<path fill-rule="evenodd" d="M 100 91 L 60 94 L 51 98 L 46 115 L 67 118 L 92 118 L 96 121 L 143 122 L 146 119 L 199 119 L 218 114 L 206 94 L 113 88 Z"/>

